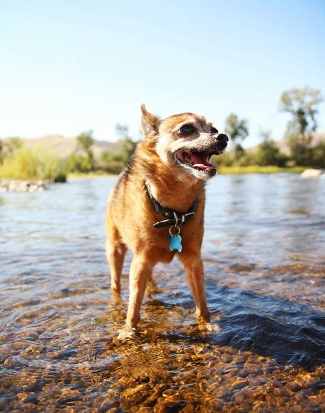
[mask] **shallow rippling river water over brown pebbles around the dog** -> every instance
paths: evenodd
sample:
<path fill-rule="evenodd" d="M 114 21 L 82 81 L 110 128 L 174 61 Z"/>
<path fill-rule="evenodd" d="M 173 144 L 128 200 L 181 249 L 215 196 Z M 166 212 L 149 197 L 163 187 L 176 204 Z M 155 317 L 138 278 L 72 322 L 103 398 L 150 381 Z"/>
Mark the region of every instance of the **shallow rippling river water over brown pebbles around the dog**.
<path fill-rule="evenodd" d="M 0 411 L 324 412 L 325 180 L 217 176 L 202 247 L 211 328 L 176 260 L 156 267 L 122 342 L 132 256 L 114 301 L 114 182 L 0 194 Z"/>

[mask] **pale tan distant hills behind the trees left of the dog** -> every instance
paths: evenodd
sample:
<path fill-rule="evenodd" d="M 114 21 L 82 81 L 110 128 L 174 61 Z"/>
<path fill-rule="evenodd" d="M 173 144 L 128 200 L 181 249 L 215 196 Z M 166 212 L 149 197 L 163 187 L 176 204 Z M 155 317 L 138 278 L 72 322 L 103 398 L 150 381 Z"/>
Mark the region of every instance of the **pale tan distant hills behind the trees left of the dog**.
<path fill-rule="evenodd" d="M 6 140 L 6 139 L 5 139 Z M 76 138 L 65 138 L 61 135 L 48 135 L 41 138 L 21 138 L 24 145 L 28 148 L 43 147 L 56 152 L 60 158 L 67 158 L 72 153 L 85 154 L 82 149 L 78 147 Z M 95 158 L 99 158 L 104 151 L 117 151 L 120 142 L 107 142 L 105 140 L 95 140 L 92 145 Z"/>

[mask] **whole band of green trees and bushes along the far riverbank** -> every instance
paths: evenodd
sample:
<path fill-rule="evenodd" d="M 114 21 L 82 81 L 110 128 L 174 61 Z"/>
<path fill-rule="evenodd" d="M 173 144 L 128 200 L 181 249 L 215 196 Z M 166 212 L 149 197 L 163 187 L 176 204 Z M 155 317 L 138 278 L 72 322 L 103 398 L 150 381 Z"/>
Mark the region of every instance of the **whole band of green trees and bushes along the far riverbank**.
<path fill-rule="evenodd" d="M 271 131 L 260 128 L 260 144 L 244 149 L 242 142 L 249 136 L 248 120 L 229 114 L 225 132 L 230 149 L 213 159 L 219 173 L 302 172 L 306 167 L 325 167 L 325 141 L 313 142 L 317 130 L 316 116 L 323 98 L 311 87 L 283 92 L 280 110 L 291 115 L 285 134 L 286 151 L 272 138 Z M 138 142 L 129 136 L 127 125 L 116 125 L 119 145 L 116 151 L 104 151 L 95 158 L 92 129 L 76 136 L 78 153 L 59 160 L 44 149 L 28 149 L 19 138 L 0 140 L 0 176 L 13 179 L 50 179 L 64 182 L 72 177 L 107 176 L 120 173 L 131 158 Z"/>

